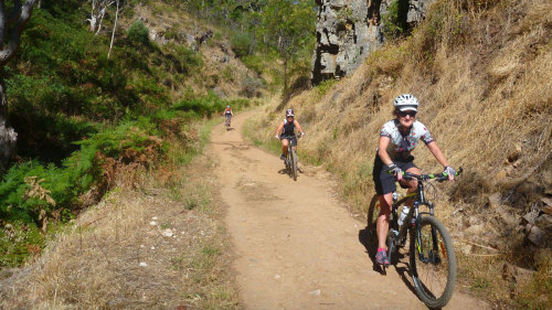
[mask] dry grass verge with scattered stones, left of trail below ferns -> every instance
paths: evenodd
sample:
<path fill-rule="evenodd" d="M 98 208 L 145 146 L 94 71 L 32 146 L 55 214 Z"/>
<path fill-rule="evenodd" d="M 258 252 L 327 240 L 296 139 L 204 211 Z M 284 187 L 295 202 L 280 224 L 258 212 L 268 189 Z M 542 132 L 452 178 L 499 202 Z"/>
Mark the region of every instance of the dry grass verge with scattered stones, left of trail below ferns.
<path fill-rule="evenodd" d="M 0 289 L 0 308 L 237 308 L 222 209 L 211 199 L 215 179 L 205 174 L 211 160 L 191 167 L 171 178 L 145 173 L 138 189 L 120 175 L 116 190 Z"/>

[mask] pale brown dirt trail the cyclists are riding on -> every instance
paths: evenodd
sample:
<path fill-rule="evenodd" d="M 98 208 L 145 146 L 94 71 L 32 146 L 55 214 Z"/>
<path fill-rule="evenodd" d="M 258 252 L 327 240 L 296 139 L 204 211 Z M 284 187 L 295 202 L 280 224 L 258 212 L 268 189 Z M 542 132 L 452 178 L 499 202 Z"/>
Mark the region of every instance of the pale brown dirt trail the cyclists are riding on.
<path fill-rule="evenodd" d="M 385 276 L 374 271 L 359 240 L 365 224 L 341 207 L 327 173 L 305 168 L 294 182 L 279 173 L 279 158 L 244 142 L 241 129 L 252 115 L 212 135 L 245 308 L 427 309 L 404 264 Z M 476 307 L 486 304 L 457 291 L 447 309 Z"/>

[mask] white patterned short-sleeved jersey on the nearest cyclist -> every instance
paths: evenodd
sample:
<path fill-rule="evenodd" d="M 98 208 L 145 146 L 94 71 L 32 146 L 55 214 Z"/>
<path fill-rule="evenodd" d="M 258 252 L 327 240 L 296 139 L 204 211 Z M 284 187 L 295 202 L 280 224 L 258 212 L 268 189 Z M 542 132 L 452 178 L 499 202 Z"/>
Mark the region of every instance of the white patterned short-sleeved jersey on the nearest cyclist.
<path fill-rule="evenodd" d="M 383 125 L 380 131 L 380 137 L 391 139 L 388 146 L 388 154 L 391 159 L 408 160 L 412 150 L 414 150 L 420 140 L 424 141 L 425 145 L 433 142 L 429 130 L 422 122 L 415 120 L 411 130 L 406 133 L 402 133 L 399 130 L 400 124 L 399 119 L 390 120 Z"/>

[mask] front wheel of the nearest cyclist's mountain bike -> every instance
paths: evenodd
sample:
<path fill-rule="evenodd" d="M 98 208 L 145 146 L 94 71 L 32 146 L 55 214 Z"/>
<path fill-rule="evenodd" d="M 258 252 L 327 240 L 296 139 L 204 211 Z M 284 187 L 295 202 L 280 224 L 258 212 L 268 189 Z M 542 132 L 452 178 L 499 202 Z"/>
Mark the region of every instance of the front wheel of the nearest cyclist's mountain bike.
<path fill-rule="evenodd" d="M 423 216 L 418 229 L 411 231 L 410 260 L 414 287 L 429 308 L 445 307 L 456 284 L 456 255 L 445 225 L 434 216 Z"/>

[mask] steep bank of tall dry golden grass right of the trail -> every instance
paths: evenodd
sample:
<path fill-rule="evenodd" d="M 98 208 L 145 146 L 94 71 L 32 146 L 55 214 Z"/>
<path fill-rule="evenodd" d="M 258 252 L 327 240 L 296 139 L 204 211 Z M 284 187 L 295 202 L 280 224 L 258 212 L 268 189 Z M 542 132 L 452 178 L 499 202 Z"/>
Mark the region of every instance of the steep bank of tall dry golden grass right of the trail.
<path fill-rule="evenodd" d="M 470 216 L 493 217 L 484 209 L 489 194 L 508 193 L 527 180 L 540 183 L 550 173 L 552 3 L 439 1 L 434 10 L 440 19 L 429 18 L 412 38 L 385 46 L 322 97 L 314 88 L 294 97 L 288 106 L 295 108 L 307 131 L 299 143 L 300 158 L 322 163 L 341 177 L 342 193 L 361 212 L 374 194 L 373 158 L 379 130 L 392 118 L 392 100 L 403 93 L 414 94 L 421 101 L 418 119 L 448 161 L 465 168 L 465 175 L 455 184 L 439 184 L 439 217 L 454 233 L 465 228 Z M 283 115 L 279 109 L 257 119 L 253 137 L 268 140 Z M 519 148 L 514 162 L 508 161 Z M 440 171 L 425 148 L 417 148 L 414 156 L 423 171 Z M 448 196 L 453 202 L 445 199 Z M 531 203 L 518 206 L 517 214 L 524 214 Z M 464 213 L 453 216 L 458 206 Z M 484 223 L 505 238 L 497 242 L 503 243 L 499 246 L 505 254 L 486 266 L 517 263 L 519 256 L 511 254 L 516 244 L 510 240 L 516 238 L 501 232 L 499 222 Z M 509 284 L 495 281 L 492 268 L 481 268 L 480 260 L 461 259 L 466 287 L 476 287 L 474 282 L 484 279 L 497 284 L 482 285 L 481 295 L 492 300 L 509 296 Z M 521 265 L 538 267 L 531 264 Z M 471 268 L 482 275 L 475 277 Z M 550 266 L 540 266 L 539 272 L 549 275 L 550 282 Z M 533 299 L 541 301 L 531 307 L 552 304 L 550 298 L 542 299 L 542 293 L 552 295 L 551 286 L 545 287 L 544 292 L 533 290 Z M 521 295 L 505 304 L 524 307 Z M 524 298 L 528 296 L 531 293 Z"/>

